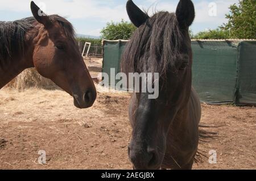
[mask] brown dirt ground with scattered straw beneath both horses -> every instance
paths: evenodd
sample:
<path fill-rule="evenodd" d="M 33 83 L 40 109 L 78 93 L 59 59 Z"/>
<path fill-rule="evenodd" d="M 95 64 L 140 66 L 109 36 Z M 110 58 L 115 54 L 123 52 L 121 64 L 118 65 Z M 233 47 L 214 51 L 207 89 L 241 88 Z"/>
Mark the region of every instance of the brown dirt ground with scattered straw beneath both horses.
<path fill-rule="evenodd" d="M 60 90 L 0 90 L 0 169 L 131 169 L 129 98 L 98 93 L 92 108 L 79 110 Z M 205 159 L 194 169 L 256 169 L 256 108 L 202 107 L 201 122 L 218 126 L 218 137 L 200 148 L 216 150 L 217 164 Z"/>

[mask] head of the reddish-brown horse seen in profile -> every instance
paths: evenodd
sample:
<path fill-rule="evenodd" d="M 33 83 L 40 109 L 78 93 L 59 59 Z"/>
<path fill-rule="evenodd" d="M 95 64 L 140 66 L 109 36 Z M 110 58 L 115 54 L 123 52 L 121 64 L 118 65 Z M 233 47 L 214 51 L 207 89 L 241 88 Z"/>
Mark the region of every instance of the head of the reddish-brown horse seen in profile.
<path fill-rule="evenodd" d="M 47 16 L 34 2 L 31 11 L 36 19 L 35 28 L 27 35 L 34 33 L 32 61 L 36 70 L 71 94 L 76 107 L 92 106 L 96 88 L 79 51 L 72 24 L 58 15 Z"/>

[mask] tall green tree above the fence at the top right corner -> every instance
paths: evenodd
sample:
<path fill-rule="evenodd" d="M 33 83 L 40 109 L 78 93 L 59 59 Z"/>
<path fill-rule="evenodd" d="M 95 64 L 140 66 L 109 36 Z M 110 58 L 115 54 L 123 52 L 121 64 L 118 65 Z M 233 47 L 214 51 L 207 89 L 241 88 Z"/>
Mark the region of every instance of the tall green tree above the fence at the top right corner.
<path fill-rule="evenodd" d="M 238 39 L 256 39 L 256 1 L 240 0 L 229 7 L 230 13 L 226 14 L 228 23 L 221 26 L 228 31 L 230 37 Z"/>

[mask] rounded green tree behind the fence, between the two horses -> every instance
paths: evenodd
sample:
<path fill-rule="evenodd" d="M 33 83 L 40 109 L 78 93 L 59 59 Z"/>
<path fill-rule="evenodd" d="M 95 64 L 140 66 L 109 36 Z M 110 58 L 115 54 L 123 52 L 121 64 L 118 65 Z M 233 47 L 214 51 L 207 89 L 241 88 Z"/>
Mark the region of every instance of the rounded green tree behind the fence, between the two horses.
<path fill-rule="evenodd" d="M 122 19 L 119 23 L 107 23 L 106 27 L 101 31 L 101 35 L 102 38 L 107 40 L 128 40 L 135 30 L 136 27 L 133 24 Z"/>

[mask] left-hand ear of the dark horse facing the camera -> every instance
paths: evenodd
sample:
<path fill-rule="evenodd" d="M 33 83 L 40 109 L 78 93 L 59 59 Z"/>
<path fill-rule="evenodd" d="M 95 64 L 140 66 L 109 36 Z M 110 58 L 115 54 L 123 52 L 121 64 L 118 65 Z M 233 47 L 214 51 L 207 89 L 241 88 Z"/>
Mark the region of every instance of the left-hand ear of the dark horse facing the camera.
<path fill-rule="evenodd" d="M 127 1 L 126 10 L 131 22 L 136 27 L 141 26 L 149 18 L 149 16 L 146 13 L 144 13 L 141 9 L 139 9 L 139 7 L 136 6 L 131 0 Z"/>

